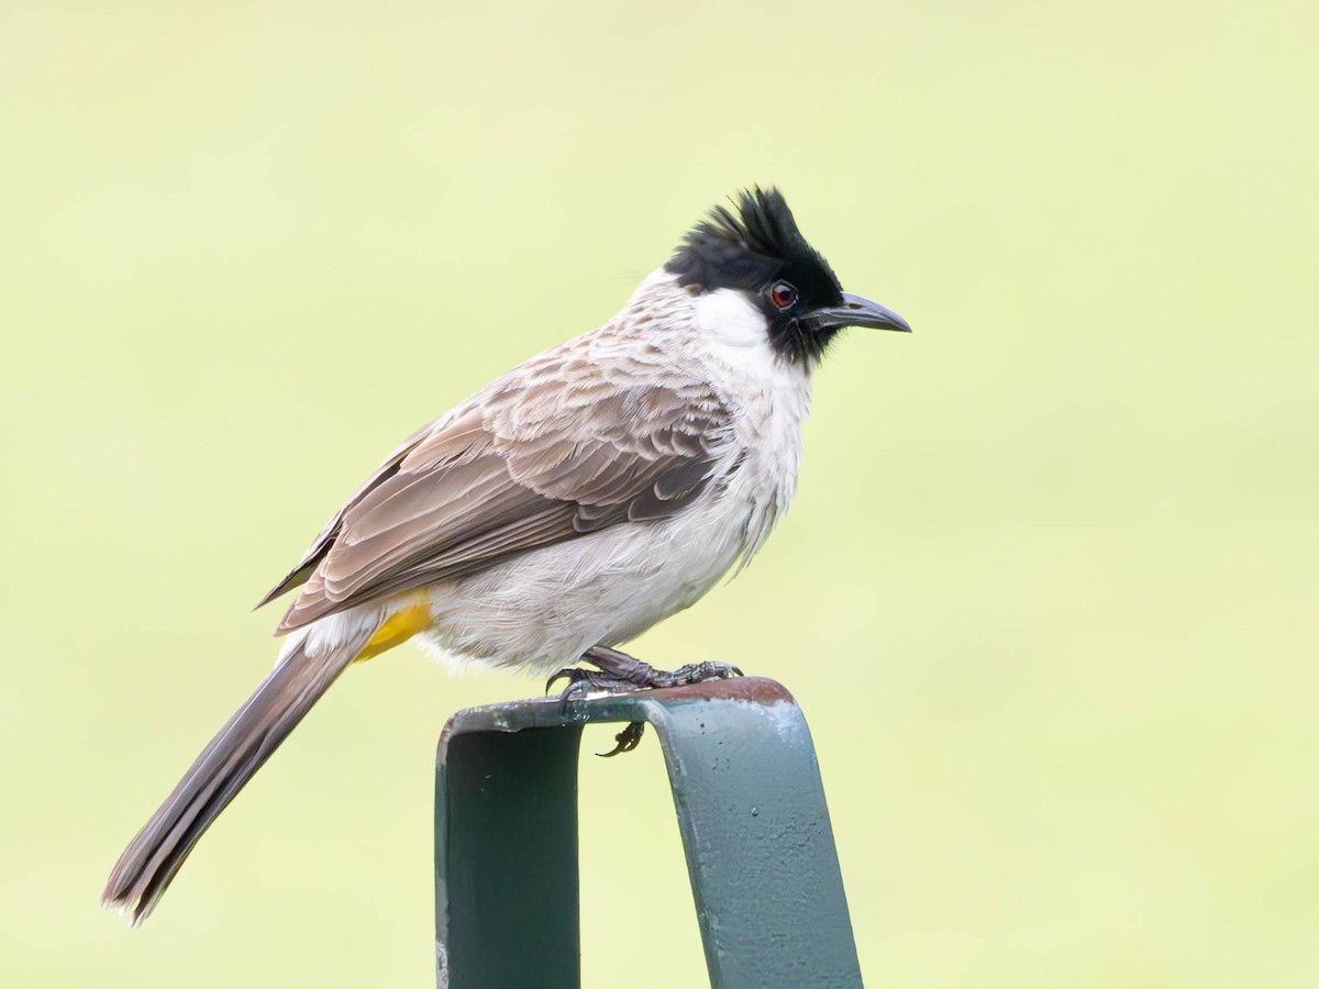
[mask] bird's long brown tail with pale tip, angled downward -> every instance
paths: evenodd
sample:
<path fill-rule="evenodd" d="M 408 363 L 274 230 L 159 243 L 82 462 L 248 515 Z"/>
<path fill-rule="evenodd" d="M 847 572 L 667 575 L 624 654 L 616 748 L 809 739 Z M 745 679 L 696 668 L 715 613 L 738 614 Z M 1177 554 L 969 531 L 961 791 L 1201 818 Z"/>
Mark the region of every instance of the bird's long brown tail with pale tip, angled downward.
<path fill-rule="evenodd" d="M 298 642 L 206 746 L 115 862 L 102 906 L 133 926 L 154 909 L 193 847 L 298 721 L 359 657 L 372 629 L 322 654 Z"/>

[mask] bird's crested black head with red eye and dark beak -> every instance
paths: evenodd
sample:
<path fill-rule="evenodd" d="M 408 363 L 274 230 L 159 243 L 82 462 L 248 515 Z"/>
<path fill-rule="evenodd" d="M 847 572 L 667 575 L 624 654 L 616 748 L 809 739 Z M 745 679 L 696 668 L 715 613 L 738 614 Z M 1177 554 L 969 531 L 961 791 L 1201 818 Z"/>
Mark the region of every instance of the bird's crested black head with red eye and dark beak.
<path fill-rule="evenodd" d="M 744 191 L 733 204 L 736 215 L 711 210 L 665 265 L 679 285 L 747 293 L 769 320 L 774 349 L 790 360 L 819 359 L 845 326 L 911 331 L 884 306 L 843 291 L 777 189 Z"/>

